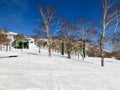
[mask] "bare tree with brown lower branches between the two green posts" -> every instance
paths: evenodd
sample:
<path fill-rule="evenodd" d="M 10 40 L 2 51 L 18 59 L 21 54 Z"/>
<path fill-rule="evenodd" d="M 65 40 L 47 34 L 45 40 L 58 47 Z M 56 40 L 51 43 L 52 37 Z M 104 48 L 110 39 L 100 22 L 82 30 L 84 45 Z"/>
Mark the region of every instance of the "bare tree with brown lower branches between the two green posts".
<path fill-rule="evenodd" d="M 65 51 L 67 53 L 67 58 L 71 58 L 72 46 L 73 46 L 73 24 L 68 19 L 62 17 L 60 24 L 60 31 L 58 32 L 60 36 L 64 38 L 65 42 Z"/>

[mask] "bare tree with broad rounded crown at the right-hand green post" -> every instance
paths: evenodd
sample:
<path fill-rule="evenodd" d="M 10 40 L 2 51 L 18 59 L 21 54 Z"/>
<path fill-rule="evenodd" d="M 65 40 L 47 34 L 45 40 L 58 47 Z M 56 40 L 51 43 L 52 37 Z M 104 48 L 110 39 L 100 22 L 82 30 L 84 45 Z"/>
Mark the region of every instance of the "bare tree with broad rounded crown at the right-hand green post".
<path fill-rule="evenodd" d="M 92 40 L 93 34 L 95 37 L 96 34 L 96 31 L 94 29 L 95 23 L 93 22 L 93 20 L 86 18 L 78 18 L 75 23 L 76 23 L 76 35 L 79 39 L 81 39 L 81 50 L 82 50 L 81 56 L 83 57 L 84 60 L 83 48 L 85 48 L 84 45 L 86 40 Z"/>

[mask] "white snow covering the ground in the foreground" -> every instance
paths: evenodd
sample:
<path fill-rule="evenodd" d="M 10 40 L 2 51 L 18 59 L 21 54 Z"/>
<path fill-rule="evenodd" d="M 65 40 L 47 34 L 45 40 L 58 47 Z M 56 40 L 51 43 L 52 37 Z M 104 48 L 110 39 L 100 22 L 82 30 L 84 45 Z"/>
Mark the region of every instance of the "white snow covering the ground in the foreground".
<path fill-rule="evenodd" d="M 120 61 L 77 56 L 67 59 L 55 52 L 48 57 L 47 50 L 30 45 L 29 50 L 0 51 L 0 90 L 119 90 Z"/>

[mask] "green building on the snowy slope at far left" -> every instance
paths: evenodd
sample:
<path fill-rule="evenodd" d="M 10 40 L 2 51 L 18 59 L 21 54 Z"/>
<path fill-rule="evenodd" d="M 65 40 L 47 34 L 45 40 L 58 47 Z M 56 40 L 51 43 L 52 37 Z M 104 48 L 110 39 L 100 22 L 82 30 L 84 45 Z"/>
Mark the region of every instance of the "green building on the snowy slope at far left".
<path fill-rule="evenodd" d="M 12 42 L 12 47 L 18 49 L 29 49 L 29 40 L 27 39 L 16 39 Z"/>

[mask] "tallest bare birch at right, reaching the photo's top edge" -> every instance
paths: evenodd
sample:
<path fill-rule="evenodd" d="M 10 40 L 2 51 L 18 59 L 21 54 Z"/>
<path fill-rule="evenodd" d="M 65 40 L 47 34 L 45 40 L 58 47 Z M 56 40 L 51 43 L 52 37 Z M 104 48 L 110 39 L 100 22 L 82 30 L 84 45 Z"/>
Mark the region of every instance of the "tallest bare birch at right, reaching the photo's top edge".
<path fill-rule="evenodd" d="M 117 31 L 119 24 L 119 8 L 115 0 L 102 0 L 102 31 L 100 35 L 101 66 L 104 66 L 104 45 Z"/>

